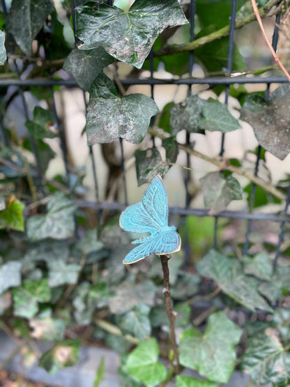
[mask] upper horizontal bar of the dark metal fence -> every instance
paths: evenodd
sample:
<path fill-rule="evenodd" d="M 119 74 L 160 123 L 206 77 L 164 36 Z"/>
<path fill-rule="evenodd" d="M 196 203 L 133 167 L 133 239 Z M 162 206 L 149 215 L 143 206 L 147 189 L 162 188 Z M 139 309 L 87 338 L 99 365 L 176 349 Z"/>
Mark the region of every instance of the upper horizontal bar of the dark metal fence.
<path fill-rule="evenodd" d="M 213 77 L 213 78 L 185 78 L 185 79 L 158 79 L 158 78 L 128 78 L 120 79 L 126 86 L 133 84 L 270 84 L 287 83 L 286 77 Z M 0 79 L 0 87 L 8 86 L 78 86 L 75 79 Z"/>

